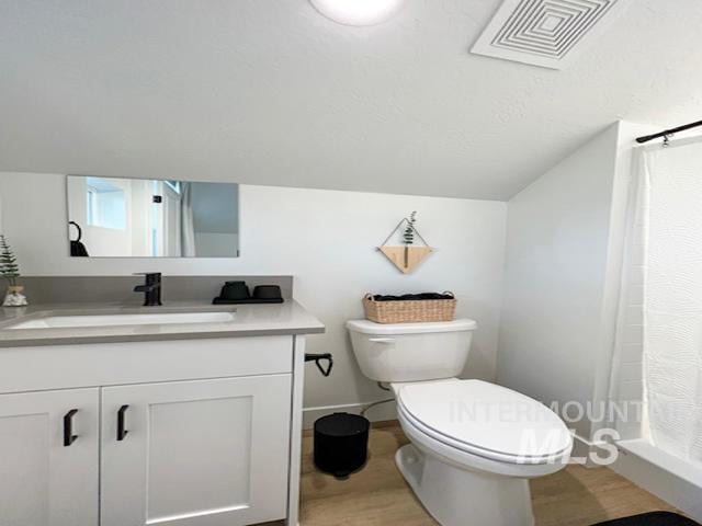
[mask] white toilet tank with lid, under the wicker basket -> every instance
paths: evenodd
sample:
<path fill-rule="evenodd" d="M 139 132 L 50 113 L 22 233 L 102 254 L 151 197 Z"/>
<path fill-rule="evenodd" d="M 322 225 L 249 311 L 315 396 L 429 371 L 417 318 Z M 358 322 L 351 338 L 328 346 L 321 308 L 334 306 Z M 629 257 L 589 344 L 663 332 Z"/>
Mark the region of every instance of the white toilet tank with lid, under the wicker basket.
<path fill-rule="evenodd" d="M 422 381 L 458 376 L 468 358 L 473 320 L 432 323 L 347 323 L 365 376 L 376 381 Z"/>

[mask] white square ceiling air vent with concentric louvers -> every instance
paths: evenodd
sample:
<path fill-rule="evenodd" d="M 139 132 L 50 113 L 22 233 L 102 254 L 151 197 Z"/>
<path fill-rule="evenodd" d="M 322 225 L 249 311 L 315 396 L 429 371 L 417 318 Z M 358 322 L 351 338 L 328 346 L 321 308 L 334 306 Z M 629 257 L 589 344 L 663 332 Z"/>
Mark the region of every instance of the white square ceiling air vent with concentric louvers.
<path fill-rule="evenodd" d="M 505 0 L 471 49 L 562 69 L 630 0 Z"/>

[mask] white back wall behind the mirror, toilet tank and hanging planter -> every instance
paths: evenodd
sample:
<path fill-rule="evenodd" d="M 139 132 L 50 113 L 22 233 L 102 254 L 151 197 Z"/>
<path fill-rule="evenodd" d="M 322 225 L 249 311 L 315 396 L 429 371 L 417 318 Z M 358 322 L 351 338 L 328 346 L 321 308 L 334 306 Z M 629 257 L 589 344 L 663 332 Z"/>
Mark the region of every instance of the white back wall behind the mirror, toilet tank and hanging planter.
<path fill-rule="evenodd" d="M 327 324 L 325 335 L 309 339 L 309 352 L 332 352 L 337 362 L 330 379 L 309 368 L 306 407 L 386 398 L 358 370 L 344 329 L 363 315 L 366 291 L 455 291 L 458 315 L 479 323 L 467 374 L 495 377 L 506 203 L 241 186 L 239 259 L 70 259 L 64 185 L 61 175 L 0 174 L 4 233 L 25 274 L 292 274 L 296 298 Z M 411 210 L 437 252 L 405 276 L 375 247 Z"/>

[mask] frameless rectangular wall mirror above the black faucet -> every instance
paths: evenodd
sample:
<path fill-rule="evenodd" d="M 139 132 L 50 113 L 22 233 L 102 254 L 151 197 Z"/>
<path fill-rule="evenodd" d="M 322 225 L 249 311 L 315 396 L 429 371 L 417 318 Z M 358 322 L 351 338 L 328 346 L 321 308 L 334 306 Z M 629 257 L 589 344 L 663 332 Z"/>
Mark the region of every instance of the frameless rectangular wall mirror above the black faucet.
<path fill-rule="evenodd" d="M 239 185 L 68 175 L 76 258 L 237 258 Z"/>

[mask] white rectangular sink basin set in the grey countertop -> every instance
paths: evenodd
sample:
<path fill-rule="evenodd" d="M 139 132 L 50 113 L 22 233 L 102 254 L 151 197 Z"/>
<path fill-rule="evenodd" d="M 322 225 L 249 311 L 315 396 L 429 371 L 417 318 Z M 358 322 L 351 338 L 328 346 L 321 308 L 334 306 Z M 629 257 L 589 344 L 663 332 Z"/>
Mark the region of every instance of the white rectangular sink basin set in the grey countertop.
<path fill-rule="evenodd" d="M 156 312 L 139 315 L 48 316 L 22 321 L 8 329 L 61 329 L 70 327 L 152 325 L 165 323 L 226 323 L 234 312 Z"/>

